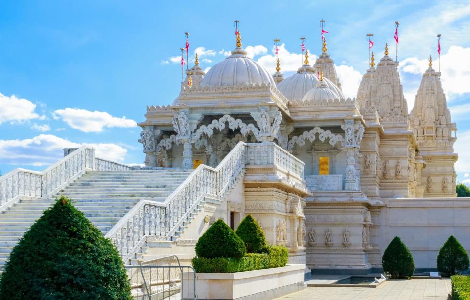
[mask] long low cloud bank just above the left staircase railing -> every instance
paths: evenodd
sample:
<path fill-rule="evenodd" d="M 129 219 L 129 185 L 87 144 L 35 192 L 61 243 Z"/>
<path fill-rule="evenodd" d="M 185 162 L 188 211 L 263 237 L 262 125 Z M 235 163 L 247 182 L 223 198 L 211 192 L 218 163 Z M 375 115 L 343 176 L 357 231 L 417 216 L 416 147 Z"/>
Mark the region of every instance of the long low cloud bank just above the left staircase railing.
<path fill-rule="evenodd" d="M 40 134 L 24 140 L 0 140 L 0 163 L 11 165 L 44 166 L 57 162 L 63 157 L 63 149 L 81 147 L 52 134 Z M 122 162 L 127 149 L 116 144 L 88 144 L 96 149 L 96 156 Z"/>

